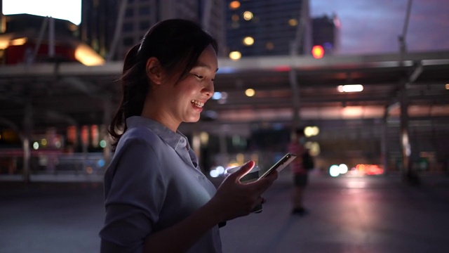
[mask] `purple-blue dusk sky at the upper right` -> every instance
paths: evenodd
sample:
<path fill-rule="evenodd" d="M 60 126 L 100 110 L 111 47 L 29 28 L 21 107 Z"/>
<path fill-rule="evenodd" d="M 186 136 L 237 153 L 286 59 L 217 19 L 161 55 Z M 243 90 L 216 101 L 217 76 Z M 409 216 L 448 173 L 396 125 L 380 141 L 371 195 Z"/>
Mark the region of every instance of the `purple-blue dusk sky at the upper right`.
<path fill-rule="evenodd" d="M 310 0 L 311 17 L 340 18 L 340 54 L 398 52 L 408 0 Z M 449 1 L 413 0 L 408 51 L 449 50 Z"/>

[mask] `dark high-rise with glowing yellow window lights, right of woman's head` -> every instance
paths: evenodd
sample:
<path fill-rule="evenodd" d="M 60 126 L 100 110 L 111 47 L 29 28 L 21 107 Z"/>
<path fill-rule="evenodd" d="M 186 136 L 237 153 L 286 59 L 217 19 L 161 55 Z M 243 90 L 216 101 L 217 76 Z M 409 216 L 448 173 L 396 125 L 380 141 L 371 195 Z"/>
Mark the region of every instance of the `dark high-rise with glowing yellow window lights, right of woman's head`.
<path fill-rule="evenodd" d="M 311 48 L 309 0 L 227 0 L 226 7 L 228 51 L 245 57 L 302 54 Z"/>

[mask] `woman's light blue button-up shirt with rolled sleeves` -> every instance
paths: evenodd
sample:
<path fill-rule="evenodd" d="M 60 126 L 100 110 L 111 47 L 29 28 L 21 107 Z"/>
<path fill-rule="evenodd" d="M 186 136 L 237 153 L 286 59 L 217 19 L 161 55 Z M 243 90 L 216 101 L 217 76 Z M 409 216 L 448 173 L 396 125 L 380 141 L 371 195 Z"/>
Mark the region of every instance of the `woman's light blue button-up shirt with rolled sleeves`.
<path fill-rule="evenodd" d="M 139 116 L 126 124 L 105 173 L 102 252 L 142 252 L 147 235 L 182 221 L 216 191 L 179 131 Z M 218 226 L 188 252 L 222 252 Z"/>

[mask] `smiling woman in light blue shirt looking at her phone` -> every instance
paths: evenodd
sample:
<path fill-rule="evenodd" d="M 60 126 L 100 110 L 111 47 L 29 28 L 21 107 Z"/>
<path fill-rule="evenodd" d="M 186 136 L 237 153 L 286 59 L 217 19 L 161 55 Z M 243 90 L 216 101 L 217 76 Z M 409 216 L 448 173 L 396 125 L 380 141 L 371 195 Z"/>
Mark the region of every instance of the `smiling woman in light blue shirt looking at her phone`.
<path fill-rule="evenodd" d="M 243 184 L 246 163 L 215 189 L 182 122 L 213 96 L 217 42 L 194 22 L 154 25 L 123 64 L 123 99 L 109 126 L 102 252 L 221 252 L 218 223 L 248 215 L 277 174 Z"/>

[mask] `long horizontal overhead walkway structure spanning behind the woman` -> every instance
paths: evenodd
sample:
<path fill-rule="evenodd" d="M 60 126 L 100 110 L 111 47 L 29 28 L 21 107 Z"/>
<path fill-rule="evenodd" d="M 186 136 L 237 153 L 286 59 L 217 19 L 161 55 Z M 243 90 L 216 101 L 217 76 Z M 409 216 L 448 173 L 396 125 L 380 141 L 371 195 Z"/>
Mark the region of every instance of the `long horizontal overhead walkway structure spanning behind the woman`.
<path fill-rule="evenodd" d="M 0 126 L 20 131 L 25 146 L 31 133 L 43 133 L 48 127 L 64 132 L 69 125 L 107 124 L 119 104 L 122 64 L 1 66 Z M 341 133 L 346 129 L 349 134 L 356 126 L 376 134 L 382 124 L 387 124 L 387 130 L 392 124 L 396 127 L 404 110 L 410 124 L 429 122 L 431 127 L 440 127 L 449 123 L 449 51 L 321 59 L 219 58 L 219 67 L 215 91 L 227 96 L 208 101 L 199 124 L 182 125 L 186 134 L 208 131 L 220 136 L 227 129 L 229 134 L 248 136 L 253 124 L 292 124 L 292 73 L 300 84 L 298 113 L 304 125 L 340 127 Z M 360 84 L 363 91 L 338 91 L 337 87 L 345 84 Z M 402 89 L 404 84 L 407 89 Z M 254 96 L 246 96 L 247 89 L 253 89 Z M 407 106 L 401 108 L 398 105 L 404 100 Z M 396 145 L 396 137 L 390 138 L 387 132 L 382 139 Z M 388 145 L 382 146 L 387 152 Z"/>

